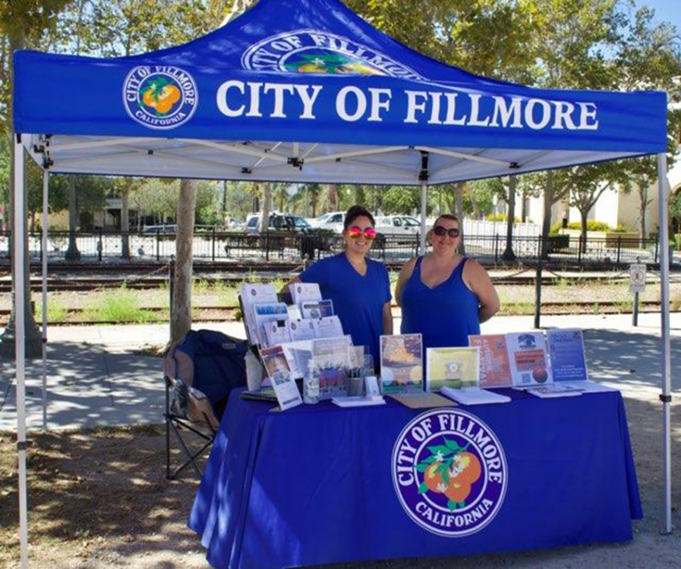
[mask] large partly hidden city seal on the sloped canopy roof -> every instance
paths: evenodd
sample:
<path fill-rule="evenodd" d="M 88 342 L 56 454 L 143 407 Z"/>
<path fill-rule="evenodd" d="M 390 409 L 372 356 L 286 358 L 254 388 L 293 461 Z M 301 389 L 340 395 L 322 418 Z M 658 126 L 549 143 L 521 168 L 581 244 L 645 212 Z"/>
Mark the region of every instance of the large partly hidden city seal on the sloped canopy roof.
<path fill-rule="evenodd" d="M 315 29 L 299 29 L 263 39 L 244 52 L 242 65 L 253 71 L 423 79 L 388 55 L 346 37 Z"/>

